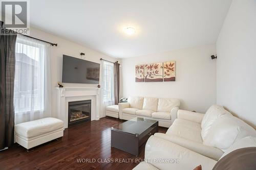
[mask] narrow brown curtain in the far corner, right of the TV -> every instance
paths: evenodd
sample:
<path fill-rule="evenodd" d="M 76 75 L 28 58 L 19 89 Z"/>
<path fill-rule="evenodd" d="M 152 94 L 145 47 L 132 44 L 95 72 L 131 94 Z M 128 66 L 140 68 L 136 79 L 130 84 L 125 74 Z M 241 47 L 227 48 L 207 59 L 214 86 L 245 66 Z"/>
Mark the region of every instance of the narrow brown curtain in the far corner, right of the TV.
<path fill-rule="evenodd" d="M 118 61 L 114 63 L 114 99 L 115 105 L 119 102 L 119 66 Z"/>

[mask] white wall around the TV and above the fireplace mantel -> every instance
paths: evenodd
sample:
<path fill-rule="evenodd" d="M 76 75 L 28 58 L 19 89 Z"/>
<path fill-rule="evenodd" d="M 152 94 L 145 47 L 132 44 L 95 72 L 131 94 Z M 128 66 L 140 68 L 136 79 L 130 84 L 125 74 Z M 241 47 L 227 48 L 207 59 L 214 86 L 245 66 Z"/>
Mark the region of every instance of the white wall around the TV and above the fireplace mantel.
<path fill-rule="evenodd" d="M 106 56 L 100 52 L 92 50 L 83 45 L 79 45 L 75 42 L 68 41 L 66 39 L 60 38 L 58 36 L 40 31 L 35 28 L 30 29 L 30 36 L 43 39 L 49 42 L 58 43 L 58 46 L 51 47 L 51 71 L 52 71 L 52 112 L 53 115 L 56 116 L 57 112 L 57 91 L 55 87 L 57 87 L 57 83 L 61 82 L 62 76 L 62 55 L 68 55 L 72 57 L 80 58 L 80 53 L 85 53 L 85 60 L 93 61 L 96 63 L 100 63 L 100 58 L 110 60 L 110 61 L 117 61 L 117 59 Z M 73 84 L 73 83 L 66 83 L 66 87 L 97 87 L 97 84 Z M 104 113 L 100 113 L 101 116 Z"/>

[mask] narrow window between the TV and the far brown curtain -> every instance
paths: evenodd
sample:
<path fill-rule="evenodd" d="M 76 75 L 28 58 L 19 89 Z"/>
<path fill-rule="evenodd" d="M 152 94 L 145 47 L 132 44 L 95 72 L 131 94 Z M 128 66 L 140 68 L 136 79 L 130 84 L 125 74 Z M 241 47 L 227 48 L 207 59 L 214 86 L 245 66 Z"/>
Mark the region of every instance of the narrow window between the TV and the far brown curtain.
<path fill-rule="evenodd" d="M 103 62 L 103 102 L 114 101 L 114 64 Z"/>

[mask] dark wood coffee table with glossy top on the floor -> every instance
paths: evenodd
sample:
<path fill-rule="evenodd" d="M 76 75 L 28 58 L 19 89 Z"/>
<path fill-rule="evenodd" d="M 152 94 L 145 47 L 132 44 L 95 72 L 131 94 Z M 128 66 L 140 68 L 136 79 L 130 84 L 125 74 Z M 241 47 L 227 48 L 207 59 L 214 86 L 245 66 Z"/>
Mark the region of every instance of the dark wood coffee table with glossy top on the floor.
<path fill-rule="evenodd" d="M 158 121 L 135 117 L 111 128 L 111 147 L 139 155 L 139 147 L 158 132 Z"/>

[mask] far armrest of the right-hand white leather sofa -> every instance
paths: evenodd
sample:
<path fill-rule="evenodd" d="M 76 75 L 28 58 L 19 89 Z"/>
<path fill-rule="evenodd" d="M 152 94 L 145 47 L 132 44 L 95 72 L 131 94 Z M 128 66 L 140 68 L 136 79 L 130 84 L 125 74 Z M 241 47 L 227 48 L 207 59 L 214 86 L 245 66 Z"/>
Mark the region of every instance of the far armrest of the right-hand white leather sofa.
<path fill-rule="evenodd" d="M 178 118 L 186 119 L 199 124 L 201 124 L 204 115 L 205 114 L 203 113 L 190 112 L 187 110 L 178 110 Z"/>

